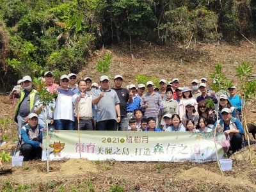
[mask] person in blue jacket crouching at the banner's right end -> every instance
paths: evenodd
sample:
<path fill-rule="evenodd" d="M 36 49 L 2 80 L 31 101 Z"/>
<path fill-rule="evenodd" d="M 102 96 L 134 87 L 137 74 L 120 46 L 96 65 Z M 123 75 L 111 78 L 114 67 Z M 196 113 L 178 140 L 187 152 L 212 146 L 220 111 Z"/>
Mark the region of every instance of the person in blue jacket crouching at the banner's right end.
<path fill-rule="evenodd" d="M 224 108 L 221 110 L 221 120 L 215 122 L 213 129 L 223 132 L 225 135 L 230 136 L 230 145 L 232 152 L 237 152 L 242 148 L 244 128 L 241 122 L 232 117 L 231 109 Z M 217 125 L 216 125 L 217 124 Z"/>

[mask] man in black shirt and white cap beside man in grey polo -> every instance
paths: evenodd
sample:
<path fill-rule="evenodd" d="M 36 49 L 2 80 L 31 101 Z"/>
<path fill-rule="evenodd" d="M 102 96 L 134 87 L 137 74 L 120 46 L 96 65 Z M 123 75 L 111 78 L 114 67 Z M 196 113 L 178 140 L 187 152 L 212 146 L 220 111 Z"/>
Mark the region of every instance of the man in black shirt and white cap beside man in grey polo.
<path fill-rule="evenodd" d="M 114 77 L 114 87 L 111 88 L 116 91 L 118 99 L 120 100 L 121 120 L 118 123 L 118 131 L 128 131 L 128 118 L 127 118 L 127 101 L 131 104 L 133 93 L 129 93 L 126 88 L 122 88 L 123 77 L 116 75 Z"/>

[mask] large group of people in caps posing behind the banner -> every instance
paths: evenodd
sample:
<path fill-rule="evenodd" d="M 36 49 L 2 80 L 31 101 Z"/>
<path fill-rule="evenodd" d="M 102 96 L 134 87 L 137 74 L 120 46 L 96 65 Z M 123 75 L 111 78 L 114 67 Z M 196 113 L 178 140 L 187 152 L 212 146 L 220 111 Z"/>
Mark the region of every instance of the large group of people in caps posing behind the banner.
<path fill-rule="evenodd" d="M 242 106 L 235 86 L 228 88 L 229 97 L 220 95 L 218 101 L 205 77 L 191 81 L 191 88 L 180 87 L 177 78 L 168 83 L 161 79 L 159 88 L 152 81 L 124 88 L 124 78 L 120 75 L 114 77 L 111 87 L 108 76 L 101 76 L 97 84 L 92 83 L 91 77 L 77 81 L 74 73 L 61 76 L 59 86 L 50 71 L 45 72 L 42 81 L 45 90 L 52 93 L 52 100 L 46 106 L 42 105 L 29 76 L 20 79 L 11 93 L 15 99 L 18 134 L 24 142 L 20 152 L 25 161 L 38 157 L 42 131 L 47 124 L 49 129 L 84 131 L 211 132 L 216 129 L 230 136 L 233 152 L 241 148 L 244 132 L 237 116 Z M 218 110 L 211 107 L 209 100 L 219 104 Z"/>

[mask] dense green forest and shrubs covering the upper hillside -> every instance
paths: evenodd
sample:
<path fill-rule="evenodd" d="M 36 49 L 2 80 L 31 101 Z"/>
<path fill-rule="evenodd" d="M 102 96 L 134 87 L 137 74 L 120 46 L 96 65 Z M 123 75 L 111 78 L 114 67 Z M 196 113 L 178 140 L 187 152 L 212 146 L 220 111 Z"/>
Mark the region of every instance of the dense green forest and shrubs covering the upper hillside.
<path fill-rule="evenodd" d="M 255 1 L 0 0 L 0 90 L 45 70 L 79 72 L 102 45 L 255 36 Z"/>

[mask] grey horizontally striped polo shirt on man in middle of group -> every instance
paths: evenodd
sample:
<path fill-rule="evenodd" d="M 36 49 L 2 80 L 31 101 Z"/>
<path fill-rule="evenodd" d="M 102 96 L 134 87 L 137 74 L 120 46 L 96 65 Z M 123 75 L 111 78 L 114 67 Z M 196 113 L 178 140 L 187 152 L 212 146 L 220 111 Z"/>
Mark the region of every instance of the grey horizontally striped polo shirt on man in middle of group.
<path fill-rule="evenodd" d="M 140 106 L 144 112 L 144 118 L 157 117 L 161 106 L 162 97 L 159 93 L 146 93 L 141 97 Z M 143 108 L 143 105 L 148 104 L 148 108 Z"/>

